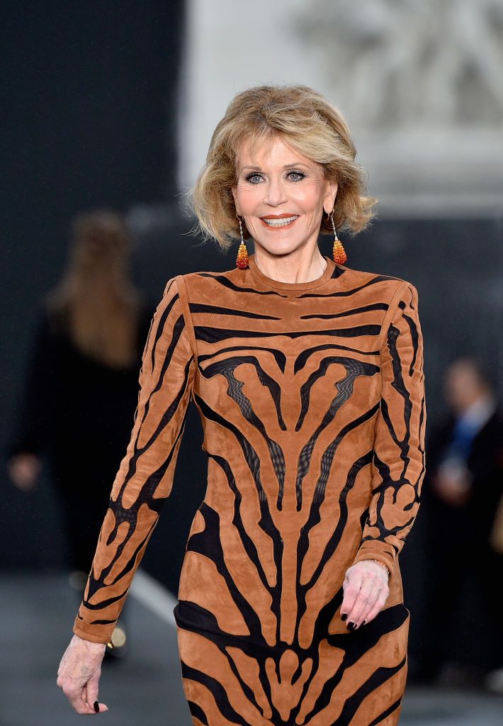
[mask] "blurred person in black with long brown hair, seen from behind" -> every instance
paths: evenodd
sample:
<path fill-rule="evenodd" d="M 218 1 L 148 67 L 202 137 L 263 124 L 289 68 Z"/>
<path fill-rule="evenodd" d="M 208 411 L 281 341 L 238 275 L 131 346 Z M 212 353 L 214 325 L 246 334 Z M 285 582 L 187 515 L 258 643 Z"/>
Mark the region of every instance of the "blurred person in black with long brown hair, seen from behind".
<path fill-rule="evenodd" d="M 152 304 L 129 279 L 131 241 L 119 213 L 79 213 L 70 242 L 62 279 L 38 315 L 20 425 L 7 459 L 15 486 L 32 492 L 48 455 L 68 539 L 70 584 L 80 602 L 131 431 Z M 123 620 L 107 655 L 126 653 Z"/>

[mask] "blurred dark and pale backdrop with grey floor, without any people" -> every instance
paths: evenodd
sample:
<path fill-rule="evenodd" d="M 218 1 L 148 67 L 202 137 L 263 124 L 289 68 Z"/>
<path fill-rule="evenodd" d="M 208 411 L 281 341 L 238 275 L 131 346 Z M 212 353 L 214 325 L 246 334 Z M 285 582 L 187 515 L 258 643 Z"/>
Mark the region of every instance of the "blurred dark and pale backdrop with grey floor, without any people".
<path fill-rule="evenodd" d="M 503 0 L 7 0 L 0 27 L 6 451 L 22 423 L 38 306 L 62 274 L 75 214 L 125 216 L 131 278 L 153 306 L 173 274 L 235 266 L 237 241 L 224 256 L 189 234 L 183 195 L 226 105 L 264 83 L 312 86 L 348 121 L 380 201 L 367 232 L 341 235 L 347 265 L 419 291 L 428 434 L 446 418 L 446 370 L 461 356 L 483 358 L 501 399 Z M 320 249 L 331 254 L 332 238 Z M 131 591 L 131 648 L 103 670 L 110 723 L 189 724 L 170 608 L 205 492 L 201 441 L 191 408 L 173 492 Z M 1 466 L 0 723 L 68 725 L 76 715 L 55 681 L 77 601 L 54 482 L 42 468 L 23 492 L 5 457 Z M 470 571 L 449 613 L 443 677 L 420 679 L 435 608 L 427 529 L 425 499 L 401 554 L 412 612 L 402 722 L 500 724 L 502 682 L 480 676 L 492 626 Z"/>

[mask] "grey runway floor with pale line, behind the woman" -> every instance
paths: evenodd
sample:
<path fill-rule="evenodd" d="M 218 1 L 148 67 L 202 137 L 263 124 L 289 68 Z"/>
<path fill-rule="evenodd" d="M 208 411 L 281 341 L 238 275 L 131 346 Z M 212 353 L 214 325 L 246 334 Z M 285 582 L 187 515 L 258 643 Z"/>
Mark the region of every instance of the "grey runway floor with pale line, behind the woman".
<path fill-rule="evenodd" d="M 81 724 L 56 684 L 78 608 L 67 574 L 0 575 L 0 725 Z M 147 604 L 148 603 L 148 604 Z M 108 726 L 189 726 L 181 688 L 175 600 L 141 569 L 128 597 L 128 656 L 104 661 L 99 700 Z M 171 609 L 170 609 L 171 608 Z M 166 614 L 168 613 L 168 614 Z M 401 726 L 501 726 L 503 696 L 407 687 Z"/>

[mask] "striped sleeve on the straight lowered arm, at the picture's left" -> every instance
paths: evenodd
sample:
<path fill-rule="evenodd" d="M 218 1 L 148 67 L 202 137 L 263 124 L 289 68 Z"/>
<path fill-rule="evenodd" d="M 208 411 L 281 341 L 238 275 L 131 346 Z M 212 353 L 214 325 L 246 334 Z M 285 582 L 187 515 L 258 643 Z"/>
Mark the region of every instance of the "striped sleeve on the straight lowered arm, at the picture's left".
<path fill-rule="evenodd" d="M 110 640 L 160 508 L 171 492 L 195 376 L 193 330 L 187 325 L 173 277 L 152 318 L 131 440 L 113 481 L 73 624 L 76 635 L 94 643 Z"/>

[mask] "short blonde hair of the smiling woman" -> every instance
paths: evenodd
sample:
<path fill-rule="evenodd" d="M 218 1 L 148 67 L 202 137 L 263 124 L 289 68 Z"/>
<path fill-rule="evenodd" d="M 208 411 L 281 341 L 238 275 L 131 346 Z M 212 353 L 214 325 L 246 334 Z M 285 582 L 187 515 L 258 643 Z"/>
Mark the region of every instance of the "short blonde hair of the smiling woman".
<path fill-rule="evenodd" d="M 356 147 L 338 108 L 308 86 L 253 86 L 238 93 L 218 122 L 206 158 L 186 201 L 197 217 L 190 234 L 213 237 L 221 250 L 240 239 L 231 187 L 237 183 L 236 161 L 240 144 L 250 148 L 281 136 L 307 158 L 323 167 L 324 177 L 337 181 L 334 205 L 336 229 L 357 234 L 375 213 L 376 197 L 367 197 L 367 172 L 355 162 Z M 243 237 L 250 232 L 243 226 Z M 322 216 L 322 234 L 333 234 L 332 222 Z"/>

